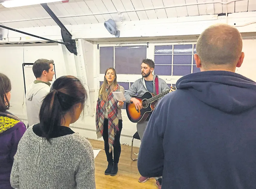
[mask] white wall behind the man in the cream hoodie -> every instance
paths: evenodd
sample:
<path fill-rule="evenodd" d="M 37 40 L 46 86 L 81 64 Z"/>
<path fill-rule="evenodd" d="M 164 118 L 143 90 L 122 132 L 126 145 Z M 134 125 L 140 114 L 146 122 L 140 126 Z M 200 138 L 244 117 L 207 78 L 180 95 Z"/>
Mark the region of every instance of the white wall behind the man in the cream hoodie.
<path fill-rule="evenodd" d="M 0 70 L 10 78 L 12 85 L 10 111 L 22 119 L 27 119 L 22 64 L 34 63 L 39 58 L 53 59 L 57 77 L 65 75 L 58 45 L 0 46 L 0 56 Z"/>

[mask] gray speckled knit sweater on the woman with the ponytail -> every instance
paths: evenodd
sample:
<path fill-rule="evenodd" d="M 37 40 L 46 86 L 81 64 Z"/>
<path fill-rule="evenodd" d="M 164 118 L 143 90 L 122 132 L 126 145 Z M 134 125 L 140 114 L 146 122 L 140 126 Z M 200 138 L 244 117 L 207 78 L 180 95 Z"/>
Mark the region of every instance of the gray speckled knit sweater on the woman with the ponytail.
<path fill-rule="evenodd" d="M 14 156 L 11 186 L 18 189 L 96 188 L 92 146 L 86 138 L 70 131 L 52 138 L 50 144 L 29 127 Z M 56 133 L 59 132 L 62 131 Z"/>

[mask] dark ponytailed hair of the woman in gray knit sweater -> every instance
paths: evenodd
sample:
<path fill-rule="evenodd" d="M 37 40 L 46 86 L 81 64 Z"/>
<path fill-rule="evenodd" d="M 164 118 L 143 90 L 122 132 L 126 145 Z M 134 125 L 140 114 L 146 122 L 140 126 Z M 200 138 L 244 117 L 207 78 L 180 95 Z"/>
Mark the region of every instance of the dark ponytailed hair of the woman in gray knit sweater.
<path fill-rule="evenodd" d="M 79 79 L 71 75 L 57 78 L 50 93 L 45 96 L 39 113 L 43 137 L 50 141 L 54 128 L 62 124 L 64 115 L 72 111 L 77 103 L 84 106 L 86 100 L 87 93 Z"/>

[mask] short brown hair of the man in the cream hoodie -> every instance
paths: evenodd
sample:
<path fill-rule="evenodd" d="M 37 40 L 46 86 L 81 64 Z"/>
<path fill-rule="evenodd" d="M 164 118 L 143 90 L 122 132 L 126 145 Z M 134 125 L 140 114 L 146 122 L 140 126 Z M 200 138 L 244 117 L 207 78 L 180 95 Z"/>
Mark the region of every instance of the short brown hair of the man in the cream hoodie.
<path fill-rule="evenodd" d="M 54 65 L 53 60 L 47 60 L 47 59 L 38 59 L 35 61 L 32 70 L 36 78 L 40 78 L 43 71 L 49 72 L 50 65 Z"/>

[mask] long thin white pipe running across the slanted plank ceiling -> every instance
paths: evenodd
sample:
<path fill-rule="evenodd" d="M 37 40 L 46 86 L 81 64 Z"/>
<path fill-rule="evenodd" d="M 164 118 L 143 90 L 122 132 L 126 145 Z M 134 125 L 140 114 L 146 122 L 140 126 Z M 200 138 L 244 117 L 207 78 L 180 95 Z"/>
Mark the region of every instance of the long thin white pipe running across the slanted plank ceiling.
<path fill-rule="evenodd" d="M 154 7 L 154 8 L 143 8 L 143 9 L 137 9 L 137 10 L 128 10 L 128 11 L 122 11 L 123 12 L 136 12 L 136 11 L 149 11 L 149 10 L 157 10 L 157 9 L 163 9 L 163 8 L 176 8 L 176 7 L 185 7 L 185 6 L 191 6 L 191 5 L 207 5 L 207 4 L 215 4 L 215 3 L 221 3 L 223 5 L 226 5 L 226 16 L 228 15 L 227 11 L 227 5 L 232 2 L 238 2 L 238 1 L 244 1 L 244 0 L 232 0 L 228 2 L 201 2 L 201 3 L 189 3 L 189 4 L 183 4 L 183 5 L 173 5 L 173 6 L 163 6 L 163 7 Z M 80 17 L 80 16 L 94 16 L 94 15 L 106 15 L 106 14 L 117 14 L 118 12 L 104 12 L 104 13 L 96 13 L 96 14 L 86 14 L 86 15 L 72 15 L 72 16 L 59 16 L 58 18 L 71 18 L 71 17 Z M 27 20 L 18 20 L 18 21 L 7 21 L 7 22 L 1 22 L 3 23 L 10 23 L 10 22 L 23 22 L 23 21 L 33 21 L 33 20 L 44 20 L 44 19 L 51 19 L 49 18 L 35 18 L 35 19 L 27 19 Z"/>

